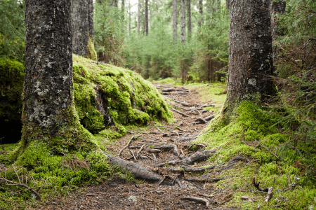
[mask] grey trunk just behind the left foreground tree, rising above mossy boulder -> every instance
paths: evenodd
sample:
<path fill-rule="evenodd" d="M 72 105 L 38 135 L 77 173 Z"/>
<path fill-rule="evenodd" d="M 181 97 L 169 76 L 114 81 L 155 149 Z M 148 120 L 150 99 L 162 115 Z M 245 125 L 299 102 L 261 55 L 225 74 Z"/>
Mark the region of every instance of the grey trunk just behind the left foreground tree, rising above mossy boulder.
<path fill-rule="evenodd" d="M 88 11 L 87 0 L 72 0 L 72 52 L 83 57 L 88 52 Z"/>

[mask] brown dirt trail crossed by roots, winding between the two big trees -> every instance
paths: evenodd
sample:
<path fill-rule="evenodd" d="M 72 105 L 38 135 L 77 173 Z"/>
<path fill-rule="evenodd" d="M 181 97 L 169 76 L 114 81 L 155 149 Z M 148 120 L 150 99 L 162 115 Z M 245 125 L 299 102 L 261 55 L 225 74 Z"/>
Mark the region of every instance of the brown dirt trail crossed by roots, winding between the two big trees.
<path fill-rule="evenodd" d="M 114 178 L 71 193 L 41 209 L 227 209 L 222 206 L 232 200 L 232 192 L 224 188 L 215 191 L 213 186 L 225 179 L 219 177 L 223 169 L 215 172 L 213 165 L 204 162 L 216 150 L 205 151 L 205 145 L 192 144 L 216 116 L 203 110 L 213 104 L 200 103 L 195 90 L 155 85 L 171 104 L 177 121 L 172 125 L 152 123 L 135 127 L 107 150 L 118 155 L 130 139 L 140 135 L 121 151 L 120 157 L 159 174 L 162 181 L 132 183 Z"/>

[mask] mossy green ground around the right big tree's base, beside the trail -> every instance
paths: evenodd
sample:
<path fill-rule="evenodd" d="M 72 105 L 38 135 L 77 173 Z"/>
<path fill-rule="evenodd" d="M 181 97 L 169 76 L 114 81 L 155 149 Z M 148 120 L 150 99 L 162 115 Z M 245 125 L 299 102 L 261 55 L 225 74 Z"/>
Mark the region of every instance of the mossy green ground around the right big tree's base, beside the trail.
<path fill-rule="evenodd" d="M 243 102 L 235 110 L 230 124 L 223 124 L 218 116 L 195 140 L 206 144 L 208 149 L 220 148 L 208 160 L 218 168 L 236 155 L 251 160 L 240 162 L 220 174 L 232 177 L 215 185 L 216 189 L 225 188 L 235 193 L 234 199 L 226 206 L 241 209 L 257 209 L 258 205 L 260 209 L 272 209 L 275 204 L 283 205 L 283 209 L 316 207 L 315 173 L 308 172 L 310 169 L 307 168 L 308 163 L 315 160 L 316 148 L 296 137 L 284 125 L 276 125 L 280 120 L 279 116 L 263 111 L 252 102 Z M 295 175 L 300 178 L 296 188 L 282 191 L 291 186 Z M 251 183 L 253 177 L 261 181 L 262 187 L 273 187 L 270 202 L 264 202 L 266 194 L 254 193 L 257 190 Z M 241 196 L 253 198 L 256 202 L 241 200 Z"/>

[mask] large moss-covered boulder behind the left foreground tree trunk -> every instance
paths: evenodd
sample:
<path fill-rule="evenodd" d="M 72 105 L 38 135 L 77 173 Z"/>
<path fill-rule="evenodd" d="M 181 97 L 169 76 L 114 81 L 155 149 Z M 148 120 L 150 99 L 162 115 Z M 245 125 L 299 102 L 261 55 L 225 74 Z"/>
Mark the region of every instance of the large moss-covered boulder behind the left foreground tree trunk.
<path fill-rule="evenodd" d="M 124 134 L 124 125 L 173 118 L 162 95 L 138 73 L 77 55 L 73 55 L 73 61 L 76 112 L 81 125 L 92 134 L 106 128 Z M 0 118 L 6 123 L 20 122 L 23 80 L 23 64 L 0 60 Z"/>

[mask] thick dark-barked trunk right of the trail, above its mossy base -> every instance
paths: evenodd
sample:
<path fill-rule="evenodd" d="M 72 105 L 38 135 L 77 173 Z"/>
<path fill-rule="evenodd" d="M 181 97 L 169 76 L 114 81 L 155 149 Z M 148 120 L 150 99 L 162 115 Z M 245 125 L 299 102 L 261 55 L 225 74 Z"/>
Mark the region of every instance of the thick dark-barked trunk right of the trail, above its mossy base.
<path fill-rule="evenodd" d="M 230 2 L 230 48 L 226 108 L 273 92 L 270 0 Z M 259 94 L 259 95 L 258 95 Z"/>

